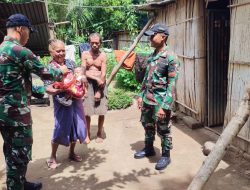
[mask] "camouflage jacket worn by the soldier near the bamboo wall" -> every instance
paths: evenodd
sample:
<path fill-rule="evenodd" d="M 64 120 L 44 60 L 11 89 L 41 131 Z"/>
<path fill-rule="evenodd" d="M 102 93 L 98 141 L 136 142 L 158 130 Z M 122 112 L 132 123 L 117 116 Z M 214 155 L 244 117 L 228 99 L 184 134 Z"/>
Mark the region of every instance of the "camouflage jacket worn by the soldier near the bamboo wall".
<path fill-rule="evenodd" d="M 153 53 L 149 57 L 139 94 L 143 102 L 171 110 L 179 65 L 177 56 L 168 46 L 158 54 Z"/>

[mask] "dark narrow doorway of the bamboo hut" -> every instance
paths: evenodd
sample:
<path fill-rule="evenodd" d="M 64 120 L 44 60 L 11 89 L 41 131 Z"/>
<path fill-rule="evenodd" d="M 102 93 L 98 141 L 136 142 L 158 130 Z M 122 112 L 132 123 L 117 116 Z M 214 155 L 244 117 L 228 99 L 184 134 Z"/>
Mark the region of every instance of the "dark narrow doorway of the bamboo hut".
<path fill-rule="evenodd" d="M 207 4 L 207 126 L 222 132 L 227 104 L 230 45 L 229 0 Z"/>

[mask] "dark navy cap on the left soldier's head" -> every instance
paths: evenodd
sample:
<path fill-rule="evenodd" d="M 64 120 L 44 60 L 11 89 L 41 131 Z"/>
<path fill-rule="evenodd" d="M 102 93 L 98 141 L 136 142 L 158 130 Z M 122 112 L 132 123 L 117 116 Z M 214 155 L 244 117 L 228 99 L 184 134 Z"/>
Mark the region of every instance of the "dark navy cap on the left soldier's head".
<path fill-rule="evenodd" d="M 15 27 L 15 26 L 26 26 L 30 29 L 30 32 L 37 32 L 37 30 L 31 25 L 29 19 L 23 14 L 13 14 L 11 15 L 6 22 L 6 27 Z"/>

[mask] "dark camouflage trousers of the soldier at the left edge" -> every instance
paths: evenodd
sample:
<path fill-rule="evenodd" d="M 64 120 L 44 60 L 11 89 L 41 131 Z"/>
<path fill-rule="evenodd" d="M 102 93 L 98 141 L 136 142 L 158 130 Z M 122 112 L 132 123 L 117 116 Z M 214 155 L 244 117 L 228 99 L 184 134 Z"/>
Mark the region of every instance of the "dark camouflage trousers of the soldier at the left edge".
<path fill-rule="evenodd" d="M 8 190 L 23 190 L 27 166 L 31 160 L 32 127 L 0 127 L 6 162 Z"/>

